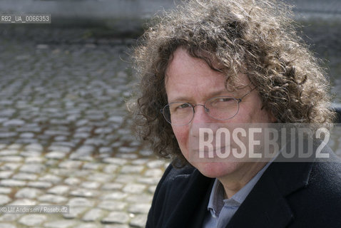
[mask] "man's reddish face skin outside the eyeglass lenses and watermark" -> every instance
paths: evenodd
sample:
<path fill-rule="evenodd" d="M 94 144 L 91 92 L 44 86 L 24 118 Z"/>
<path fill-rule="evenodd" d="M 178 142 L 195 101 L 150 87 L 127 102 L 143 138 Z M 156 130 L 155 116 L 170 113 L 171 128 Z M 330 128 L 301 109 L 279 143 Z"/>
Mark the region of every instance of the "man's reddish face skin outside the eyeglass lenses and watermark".
<path fill-rule="evenodd" d="M 240 74 L 240 83 L 249 85 L 248 77 Z M 228 92 L 225 88 L 223 73 L 213 71 L 205 61 L 193 58 L 183 48 L 178 48 L 166 70 L 166 93 L 168 103 L 186 102 L 190 104 L 205 104 L 205 101 L 217 96 L 232 96 L 241 98 L 250 92 L 250 87 L 245 86 L 240 90 Z M 203 106 L 195 107 L 195 115 L 188 125 L 173 126 L 173 132 L 183 156 L 207 177 L 224 177 L 247 169 L 247 162 L 200 162 L 190 159 L 193 143 L 190 138 L 198 137 L 198 128 L 206 123 L 272 123 L 273 115 L 261 109 L 262 102 L 257 90 L 243 98 L 238 114 L 229 120 L 215 120 L 205 113 Z"/>

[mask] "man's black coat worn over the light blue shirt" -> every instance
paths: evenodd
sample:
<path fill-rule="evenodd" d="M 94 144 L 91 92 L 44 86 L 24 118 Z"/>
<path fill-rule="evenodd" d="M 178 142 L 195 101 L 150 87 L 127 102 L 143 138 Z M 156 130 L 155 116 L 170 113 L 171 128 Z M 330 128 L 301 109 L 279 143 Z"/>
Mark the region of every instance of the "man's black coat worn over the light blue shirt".
<path fill-rule="evenodd" d="M 273 162 L 227 228 L 340 228 L 341 163 L 327 152 L 329 162 Z M 156 188 L 146 227 L 202 227 L 213 181 L 193 167 L 170 165 Z"/>

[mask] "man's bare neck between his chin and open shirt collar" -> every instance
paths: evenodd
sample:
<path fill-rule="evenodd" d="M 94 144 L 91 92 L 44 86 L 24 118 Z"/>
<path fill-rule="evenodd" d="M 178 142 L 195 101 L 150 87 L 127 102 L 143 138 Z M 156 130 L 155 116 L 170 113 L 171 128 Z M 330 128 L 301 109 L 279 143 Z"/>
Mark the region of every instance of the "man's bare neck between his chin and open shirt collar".
<path fill-rule="evenodd" d="M 224 177 L 218 177 L 218 180 L 224 187 L 224 197 L 225 199 L 230 199 L 242 189 L 248 182 L 255 177 L 255 175 L 263 169 L 267 162 L 247 162 L 240 167 L 233 174 L 226 175 Z"/>

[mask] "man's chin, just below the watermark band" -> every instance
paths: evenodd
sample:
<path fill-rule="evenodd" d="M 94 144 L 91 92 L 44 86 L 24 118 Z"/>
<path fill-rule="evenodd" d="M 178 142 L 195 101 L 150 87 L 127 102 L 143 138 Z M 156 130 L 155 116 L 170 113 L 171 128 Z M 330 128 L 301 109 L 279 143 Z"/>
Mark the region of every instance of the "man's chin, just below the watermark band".
<path fill-rule="evenodd" d="M 205 177 L 216 178 L 232 175 L 241 164 L 240 162 L 195 162 L 192 165 Z"/>

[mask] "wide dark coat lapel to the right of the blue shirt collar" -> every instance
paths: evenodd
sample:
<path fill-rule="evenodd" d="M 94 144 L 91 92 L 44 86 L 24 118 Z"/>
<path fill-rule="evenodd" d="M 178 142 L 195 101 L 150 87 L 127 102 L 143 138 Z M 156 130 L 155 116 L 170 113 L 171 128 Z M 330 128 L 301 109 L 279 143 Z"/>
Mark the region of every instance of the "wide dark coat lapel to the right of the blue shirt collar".
<path fill-rule="evenodd" d="M 287 227 L 294 216 L 285 196 L 307 185 L 311 167 L 312 162 L 273 162 L 227 228 Z"/>

